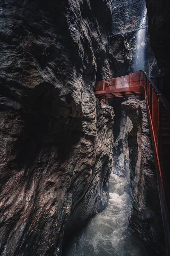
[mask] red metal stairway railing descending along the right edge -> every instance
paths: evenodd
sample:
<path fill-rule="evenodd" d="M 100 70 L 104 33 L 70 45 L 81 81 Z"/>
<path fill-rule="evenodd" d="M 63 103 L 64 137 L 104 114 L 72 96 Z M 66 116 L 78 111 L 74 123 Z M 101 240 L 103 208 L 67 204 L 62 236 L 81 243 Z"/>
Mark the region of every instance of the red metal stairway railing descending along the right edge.
<path fill-rule="evenodd" d="M 170 104 L 144 73 L 145 100 L 150 123 L 162 220 L 170 255 Z"/>

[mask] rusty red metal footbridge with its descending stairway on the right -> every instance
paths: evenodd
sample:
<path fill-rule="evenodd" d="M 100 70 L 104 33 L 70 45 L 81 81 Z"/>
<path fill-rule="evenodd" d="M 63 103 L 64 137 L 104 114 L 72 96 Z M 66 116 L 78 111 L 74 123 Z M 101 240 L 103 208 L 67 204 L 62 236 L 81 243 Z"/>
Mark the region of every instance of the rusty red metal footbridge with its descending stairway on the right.
<path fill-rule="evenodd" d="M 142 70 L 127 76 L 97 81 L 95 95 L 99 99 L 136 95 L 145 98 L 167 253 L 170 256 L 170 104 Z"/>

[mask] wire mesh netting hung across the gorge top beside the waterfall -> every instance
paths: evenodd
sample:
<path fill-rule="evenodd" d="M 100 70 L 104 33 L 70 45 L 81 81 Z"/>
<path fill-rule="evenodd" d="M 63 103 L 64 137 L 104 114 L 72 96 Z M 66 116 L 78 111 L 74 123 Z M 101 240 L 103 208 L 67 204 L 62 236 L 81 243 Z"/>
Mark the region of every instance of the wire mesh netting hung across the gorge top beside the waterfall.
<path fill-rule="evenodd" d="M 112 0 L 112 36 L 147 27 L 145 0 Z"/>

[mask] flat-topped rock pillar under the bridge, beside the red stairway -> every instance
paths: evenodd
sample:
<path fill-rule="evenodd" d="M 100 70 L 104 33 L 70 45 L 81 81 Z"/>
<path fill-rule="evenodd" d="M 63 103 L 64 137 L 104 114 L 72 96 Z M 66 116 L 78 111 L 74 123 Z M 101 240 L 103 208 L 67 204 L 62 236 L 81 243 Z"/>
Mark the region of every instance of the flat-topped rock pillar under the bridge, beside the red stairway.
<path fill-rule="evenodd" d="M 122 108 L 133 128 L 129 132 L 130 189 L 133 195 L 130 228 L 165 255 L 164 231 L 145 101 L 129 99 Z"/>

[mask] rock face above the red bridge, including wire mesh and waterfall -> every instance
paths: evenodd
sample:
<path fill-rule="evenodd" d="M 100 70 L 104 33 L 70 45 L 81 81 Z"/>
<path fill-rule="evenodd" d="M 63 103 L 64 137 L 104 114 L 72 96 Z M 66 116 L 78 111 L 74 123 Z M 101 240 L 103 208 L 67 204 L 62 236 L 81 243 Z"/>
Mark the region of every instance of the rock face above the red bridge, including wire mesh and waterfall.
<path fill-rule="evenodd" d="M 161 2 L 166 1 L 161 0 Z M 153 1 L 148 0 L 147 2 L 150 2 L 150 6 L 152 6 L 151 2 Z M 154 1 L 153 6 L 158 5 L 158 2 Z M 136 0 L 114 0 L 112 5 L 111 48 L 116 76 L 125 76 L 138 70 L 144 70 L 150 78 L 163 75 L 150 47 L 147 28 L 147 11 L 155 19 L 154 14 L 150 13 L 154 7 L 146 8 L 144 0 L 138 0 L 137 3 Z M 151 30 L 154 31 L 155 27 Z"/>

